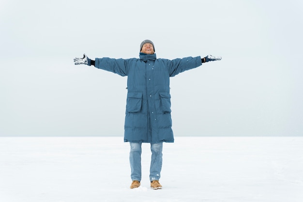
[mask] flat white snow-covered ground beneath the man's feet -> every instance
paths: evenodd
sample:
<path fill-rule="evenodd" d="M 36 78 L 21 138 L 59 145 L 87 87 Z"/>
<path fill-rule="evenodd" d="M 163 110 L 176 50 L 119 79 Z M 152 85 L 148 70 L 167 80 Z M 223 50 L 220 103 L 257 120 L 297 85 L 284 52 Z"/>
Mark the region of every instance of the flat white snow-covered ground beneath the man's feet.
<path fill-rule="evenodd" d="M 130 189 L 122 137 L 1 137 L 0 202 L 302 202 L 303 137 L 176 137 L 161 190 Z"/>

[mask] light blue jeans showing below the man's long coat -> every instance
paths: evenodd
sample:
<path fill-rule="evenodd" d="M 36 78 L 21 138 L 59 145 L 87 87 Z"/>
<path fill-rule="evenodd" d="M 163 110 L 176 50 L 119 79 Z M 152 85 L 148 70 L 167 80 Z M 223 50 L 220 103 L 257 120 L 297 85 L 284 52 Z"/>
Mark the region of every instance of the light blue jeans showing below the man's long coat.
<path fill-rule="evenodd" d="M 129 153 L 129 162 L 131 165 L 132 180 L 141 181 L 141 149 L 142 143 L 130 142 L 131 151 Z M 162 169 L 162 148 L 163 143 L 151 143 L 152 161 L 150 168 L 150 181 L 159 180 Z"/>

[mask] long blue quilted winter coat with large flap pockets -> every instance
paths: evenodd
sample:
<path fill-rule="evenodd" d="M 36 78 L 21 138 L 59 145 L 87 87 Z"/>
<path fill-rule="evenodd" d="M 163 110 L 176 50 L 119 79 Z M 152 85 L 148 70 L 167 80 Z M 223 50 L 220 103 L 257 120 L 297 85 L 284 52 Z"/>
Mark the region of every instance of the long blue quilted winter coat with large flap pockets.
<path fill-rule="evenodd" d="M 169 77 L 201 64 L 201 57 L 167 60 L 156 59 L 156 54 L 143 53 L 140 53 L 140 59 L 95 59 L 95 67 L 128 76 L 125 142 L 174 141 Z"/>

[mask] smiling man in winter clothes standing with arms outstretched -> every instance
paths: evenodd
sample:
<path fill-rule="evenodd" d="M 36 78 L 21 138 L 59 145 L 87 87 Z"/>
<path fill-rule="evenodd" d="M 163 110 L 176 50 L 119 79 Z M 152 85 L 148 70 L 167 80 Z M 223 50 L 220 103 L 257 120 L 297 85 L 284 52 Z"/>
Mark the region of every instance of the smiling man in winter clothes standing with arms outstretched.
<path fill-rule="evenodd" d="M 170 116 L 169 77 L 204 62 L 221 60 L 211 55 L 182 59 L 157 59 L 151 40 L 140 44 L 139 59 L 96 58 L 94 61 L 85 54 L 75 58 L 75 64 L 94 65 L 127 78 L 127 101 L 124 124 L 124 142 L 130 142 L 130 166 L 132 184 L 140 186 L 141 181 L 141 144 L 151 143 L 152 160 L 150 181 L 153 189 L 161 189 L 159 183 L 162 169 L 163 142 L 173 142 Z"/>

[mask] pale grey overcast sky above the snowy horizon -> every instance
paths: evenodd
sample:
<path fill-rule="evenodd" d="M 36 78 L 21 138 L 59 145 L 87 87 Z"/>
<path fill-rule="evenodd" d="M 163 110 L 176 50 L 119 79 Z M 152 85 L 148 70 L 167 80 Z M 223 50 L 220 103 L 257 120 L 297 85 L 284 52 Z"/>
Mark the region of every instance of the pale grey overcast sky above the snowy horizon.
<path fill-rule="evenodd" d="M 121 136 L 126 77 L 73 59 L 222 56 L 170 79 L 176 136 L 303 135 L 303 1 L 1 0 L 0 136 Z"/>

